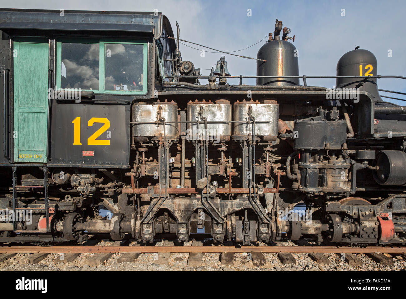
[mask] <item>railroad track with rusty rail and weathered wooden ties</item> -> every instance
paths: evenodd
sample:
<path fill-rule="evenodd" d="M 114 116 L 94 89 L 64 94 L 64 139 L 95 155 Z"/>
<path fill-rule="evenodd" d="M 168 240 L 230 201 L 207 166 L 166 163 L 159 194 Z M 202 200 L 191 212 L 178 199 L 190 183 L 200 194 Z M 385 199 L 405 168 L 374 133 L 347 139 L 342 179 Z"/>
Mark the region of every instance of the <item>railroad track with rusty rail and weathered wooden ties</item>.
<path fill-rule="evenodd" d="M 274 246 L 238 246 L 226 245 L 212 246 L 204 245 L 203 242 L 193 240 L 191 246 L 174 246 L 171 241 L 164 241 L 163 245 L 143 245 L 138 243 L 131 244 L 129 240 L 116 241 L 106 246 L 99 243 L 99 240 L 88 240 L 83 245 L 55 245 L 52 247 L 39 246 L 0 246 L 0 262 L 4 262 L 10 258 L 17 258 L 19 264 L 37 264 L 51 254 L 54 258 L 54 264 L 60 262 L 73 262 L 82 253 L 86 255 L 84 264 L 91 267 L 104 264 L 114 253 L 120 253 L 115 263 L 135 262 L 142 253 L 153 253 L 157 264 L 168 264 L 171 253 L 189 253 L 188 266 L 201 266 L 203 253 L 220 253 L 220 262 L 223 266 L 232 266 L 236 255 L 239 253 L 250 255 L 254 266 L 263 266 L 266 263 L 264 253 L 276 253 L 280 262 L 286 264 L 296 264 L 296 258 L 293 254 L 308 254 L 311 259 L 319 266 L 322 264 L 330 264 L 331 255 L 337 255 L 341 260 L 345 260 L 351 266 L 361 266 L 363 261 L 355 254 L 363 253 L 367 258 L 374 260 L 382 265 L 394 265 L 395 256 L 401 256 L 406 259 L 406 247 L 393 246 L 371 246 L 371 247 L 341 247 L 341 246 L 316 246 L 311 245 L 305 240 L 295 242 L 295 246 L 285 246 L 283 242 L 275 242 Z M 29 255 L 25 255 L 30 253 Z M 55 254 L 58 257 L 55 258 Z M 94 254 L 93 254 L 94 253 Z M 24 254 L 21 257 L 17 254 Z M 17 256 L 16 256 L 17 255 Z M 63 259 L 60 258 L 63 256 Z M 82 256 L 82 255 L 81 255 Z M 155 260 L 154 258 L 154 260 Z M 323 271 L 322 268 L 320 270 Z"/>

